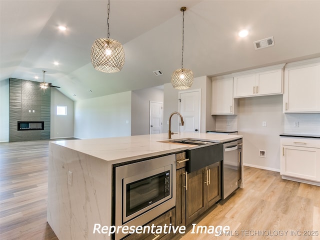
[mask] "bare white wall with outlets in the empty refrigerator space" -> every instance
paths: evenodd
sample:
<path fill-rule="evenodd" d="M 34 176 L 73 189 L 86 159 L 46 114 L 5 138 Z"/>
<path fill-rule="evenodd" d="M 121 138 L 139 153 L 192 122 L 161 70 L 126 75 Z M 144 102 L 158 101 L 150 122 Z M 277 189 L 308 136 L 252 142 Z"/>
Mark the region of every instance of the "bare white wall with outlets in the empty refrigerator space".
<path fill-rule="evenodd" d="M 243 163 L 279 171 L 282 95 L 239 98 L 237 120 L 238 134 L 243 135 Z M 262 121 L 267 122 L 266 127 Z M 265 150 L 265 158 L 259 156 L 259 150 Z"/>

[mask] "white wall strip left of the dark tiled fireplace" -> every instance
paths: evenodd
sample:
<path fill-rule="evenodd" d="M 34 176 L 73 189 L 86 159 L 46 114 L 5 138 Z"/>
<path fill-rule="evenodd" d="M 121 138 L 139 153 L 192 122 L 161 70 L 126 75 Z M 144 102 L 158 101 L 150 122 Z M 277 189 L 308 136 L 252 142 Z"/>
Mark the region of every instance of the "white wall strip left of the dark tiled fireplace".
<path fill-rule="evenodd" d="M 0 81 L 0 142 L 9 141 L 9 79 Z"/>

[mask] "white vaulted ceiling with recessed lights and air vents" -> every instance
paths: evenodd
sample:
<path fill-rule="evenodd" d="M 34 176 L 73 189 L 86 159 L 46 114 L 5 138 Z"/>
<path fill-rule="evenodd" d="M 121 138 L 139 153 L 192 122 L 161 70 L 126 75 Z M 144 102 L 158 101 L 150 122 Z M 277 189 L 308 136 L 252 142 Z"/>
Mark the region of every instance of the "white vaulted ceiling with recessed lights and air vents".
<path fill-rule="evenodd" d="M 125 52 L 116 73 L 90 60 L 107 35 L 107 0 L 0 0 L 0 80 L 41 81 L 46 70 L 45 81 L 74 100 L 170 82 L 181 66 L 181 6 L 183 66 L 195 77 L 320 56 L 320 0 L 110 0 L 110 37 Z M 269 36 L 274 46 L 254 49 Z"/>

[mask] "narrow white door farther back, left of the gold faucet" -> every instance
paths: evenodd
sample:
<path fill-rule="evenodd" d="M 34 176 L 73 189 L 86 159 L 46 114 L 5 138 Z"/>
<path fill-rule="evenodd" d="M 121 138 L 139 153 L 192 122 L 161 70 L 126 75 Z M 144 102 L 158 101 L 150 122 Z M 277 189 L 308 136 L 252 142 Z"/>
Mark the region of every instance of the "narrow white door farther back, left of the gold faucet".
<path fill-rule="evenodd" d="M 162 132 L 162 102 L 150 101 L 150 134 Z"/>

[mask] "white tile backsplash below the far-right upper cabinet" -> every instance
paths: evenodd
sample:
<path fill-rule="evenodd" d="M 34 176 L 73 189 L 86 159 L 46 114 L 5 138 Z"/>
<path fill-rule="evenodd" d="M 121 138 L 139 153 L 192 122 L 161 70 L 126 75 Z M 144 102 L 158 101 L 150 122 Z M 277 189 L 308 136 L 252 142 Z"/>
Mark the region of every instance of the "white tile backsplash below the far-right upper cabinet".
<path fill-rule="evenodd" d="M 284 132 L 320 134 L 320 113 L 284 114 Z"/>

